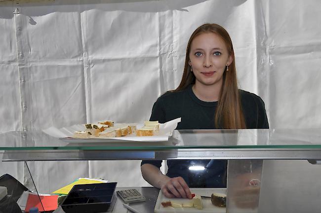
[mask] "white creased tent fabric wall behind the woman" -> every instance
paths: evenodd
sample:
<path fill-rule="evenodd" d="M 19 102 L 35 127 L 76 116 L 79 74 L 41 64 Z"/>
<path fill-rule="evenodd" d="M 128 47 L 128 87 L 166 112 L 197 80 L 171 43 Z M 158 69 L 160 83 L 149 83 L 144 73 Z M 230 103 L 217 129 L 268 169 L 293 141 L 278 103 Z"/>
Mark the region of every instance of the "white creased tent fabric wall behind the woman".
<path fill-rule="evenodd" d="M 261 96 L 271 128 L 320 128 L 320 8 L 320 0 L 1 1 L 0 133 L 149 119 L 178 86 L 187 41 L 203 23 L 230 33 L 240 88 Z M 140 161 L 30 165 L 41 193 L 79 177 L 148 185 Z M 0 166 L 30 181 L 23 164 Z"/>

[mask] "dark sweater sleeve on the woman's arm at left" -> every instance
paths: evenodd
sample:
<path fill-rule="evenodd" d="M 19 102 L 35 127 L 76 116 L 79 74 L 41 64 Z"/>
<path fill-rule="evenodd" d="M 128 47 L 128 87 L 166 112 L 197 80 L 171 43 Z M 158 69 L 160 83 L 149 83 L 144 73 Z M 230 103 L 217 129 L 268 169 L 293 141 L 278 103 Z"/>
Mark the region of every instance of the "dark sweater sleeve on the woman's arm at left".
<path fill-rule="evenodd" d="M 152 109 L 150 121 L 159 121 L 159 123 L 165 123 L 165 113 L 161 104 L 161 99 L 159 98 Z M 161 168 L 161 160 L 142 160 L 140 166 L 144 164 L 152 164 L 158 168 Z"/>

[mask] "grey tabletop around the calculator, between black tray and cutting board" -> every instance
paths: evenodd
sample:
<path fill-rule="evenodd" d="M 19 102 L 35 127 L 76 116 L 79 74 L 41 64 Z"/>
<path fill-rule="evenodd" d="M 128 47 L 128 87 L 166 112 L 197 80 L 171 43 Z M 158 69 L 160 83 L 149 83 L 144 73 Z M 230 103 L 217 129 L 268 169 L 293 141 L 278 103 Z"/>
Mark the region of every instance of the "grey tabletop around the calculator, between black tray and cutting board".
<path fill-rule="evenodd" d="M 139 213 L 153 213 L 155 204 L 158 198 L 158 194 L 160 189 L 155 187 L 117 187 L 116 190 L 123 190 L 123 189 L 137 189 L 144 195 L 146 198 L 145 202 L 139 202 L 139 203 L 130 203 L 127 204 L 128 206 L 134 208 Z M 115 195 L 116 196 L 116 195 Z M 123 202 L 118 197 L 116 200 L 116 203 L 114 205 L 113 211 L 108 211 L 107 213 L 132 213 L 131 211 L 127 210 L 122 206 Z M 53 213 L 65 213 L 62 208 L 59 206 L 58 209 L 56 209 Z"/>

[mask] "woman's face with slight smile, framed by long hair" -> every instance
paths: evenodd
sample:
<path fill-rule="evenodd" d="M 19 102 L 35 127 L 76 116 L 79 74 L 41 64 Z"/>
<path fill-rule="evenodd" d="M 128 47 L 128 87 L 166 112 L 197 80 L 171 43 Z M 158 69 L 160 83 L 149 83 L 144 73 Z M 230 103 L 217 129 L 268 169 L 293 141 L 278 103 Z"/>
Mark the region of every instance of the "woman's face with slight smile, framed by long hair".
<path fill-rule="evenodd" d="M 196 36 L 191 43 L 189 57 L 196 84 L 221 88 L 225 66 L 233 61 L 221 37 L 215 33 Z"/>

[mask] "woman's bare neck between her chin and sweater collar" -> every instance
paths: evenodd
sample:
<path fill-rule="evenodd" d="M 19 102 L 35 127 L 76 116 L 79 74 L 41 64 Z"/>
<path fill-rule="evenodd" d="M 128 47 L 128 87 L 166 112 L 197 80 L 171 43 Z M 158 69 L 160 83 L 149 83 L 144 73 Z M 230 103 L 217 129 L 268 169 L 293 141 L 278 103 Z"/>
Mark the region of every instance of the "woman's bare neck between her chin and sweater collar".
<path fill-rule="evenodd" d="M 193 85 L 192 90 L 196 97 L 204 102 L 218 101 L 221 85 L 204 85 L 197 82 Z"/>

